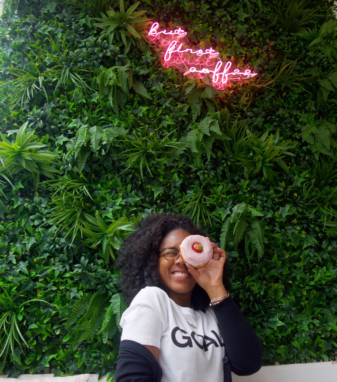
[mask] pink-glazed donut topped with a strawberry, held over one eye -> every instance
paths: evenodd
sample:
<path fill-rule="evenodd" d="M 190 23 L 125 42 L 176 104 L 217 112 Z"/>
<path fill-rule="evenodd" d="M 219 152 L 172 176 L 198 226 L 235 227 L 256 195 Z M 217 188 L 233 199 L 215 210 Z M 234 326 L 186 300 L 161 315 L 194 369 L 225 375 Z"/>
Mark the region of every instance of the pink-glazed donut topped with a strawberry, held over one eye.
<path fill-rule="evenodd" d="M 180 244 L 180 257 L 194 268 L 203 268 L 213 257 L 212 244 L 201 235 L 187 236 Z"/>

